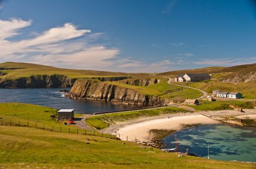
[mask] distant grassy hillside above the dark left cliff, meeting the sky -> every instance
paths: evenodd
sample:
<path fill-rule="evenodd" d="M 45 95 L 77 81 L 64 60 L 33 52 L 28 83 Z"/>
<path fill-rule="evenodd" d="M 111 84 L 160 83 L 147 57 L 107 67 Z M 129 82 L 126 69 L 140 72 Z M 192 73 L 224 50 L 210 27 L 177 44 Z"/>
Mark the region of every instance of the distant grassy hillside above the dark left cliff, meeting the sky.
<path fill-rule="evenodd" d="M 7 75 L 1 76 L 1 79 L 16 79 L 17 77 L 29 77 L 31 75 L 66 75 L 70 78 L 88 78 L 88 77 L 117 77 L 117 76 L 148 76 L 148 74 L 132 74 L 119 72 L 104 72 L 95 70 L 75 70 L 55 68 L 51 66 L 44 66 L 32 63 L 18 63 L 5 62 L 0 63 L 0 69 L 8 68 L 7 70 L 0 70 Z"/>

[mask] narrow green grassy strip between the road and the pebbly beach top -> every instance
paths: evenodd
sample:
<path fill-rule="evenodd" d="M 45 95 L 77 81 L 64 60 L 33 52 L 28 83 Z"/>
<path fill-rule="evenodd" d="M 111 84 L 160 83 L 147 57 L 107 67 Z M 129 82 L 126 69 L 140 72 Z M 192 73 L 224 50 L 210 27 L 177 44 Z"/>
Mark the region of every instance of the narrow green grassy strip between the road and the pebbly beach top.
<path fill-rule="evenodd" d="M 177 107 L 165 107 L 165 108 L 148 109 L 148 110 L 141 110 L 141 111 L 98 115 L 98 116 L 87 118 L 86 121 L 87 121 L 87 124 L 97 129 L 103 129 L 108 127 L 110 124 L 114 124 L 117 121 L 132 120 L 132 119 L 137 119 L 137 118 L 147 117 L 147 116 L 157 116 L 161 114 L 173 114 L 178 112 L 187 112 L 187 111 L 185 109 L 177 108 Z"/>

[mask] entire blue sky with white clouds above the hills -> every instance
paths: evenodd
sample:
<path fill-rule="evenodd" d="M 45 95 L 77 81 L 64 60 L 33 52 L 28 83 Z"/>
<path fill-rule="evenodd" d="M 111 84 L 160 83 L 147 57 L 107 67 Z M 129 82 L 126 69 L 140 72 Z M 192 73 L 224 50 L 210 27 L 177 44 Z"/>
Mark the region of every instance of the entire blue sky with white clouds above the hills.
<path fill-rule="evenodd" d="M 256 63 L 253 0 L 0 0 L 0 62 L 167 72 Z"/>

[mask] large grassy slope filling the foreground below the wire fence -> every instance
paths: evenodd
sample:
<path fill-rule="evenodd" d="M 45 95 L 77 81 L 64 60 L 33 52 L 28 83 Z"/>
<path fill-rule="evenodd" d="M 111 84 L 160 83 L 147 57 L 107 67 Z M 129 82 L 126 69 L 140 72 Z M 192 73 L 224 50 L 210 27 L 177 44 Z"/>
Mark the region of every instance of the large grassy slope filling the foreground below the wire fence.
<path fill-rule="evenodd" d="M 179 158 L 134 142 L 0 126 L 0 164 L 7 168 L 253 168 L 255 164 Z M 89 144 L 87 144 L 87 142 Z M 125 142 L 125 144 L 122 144 Z M 155 153 L 152 153 L 155 152 Z"/>

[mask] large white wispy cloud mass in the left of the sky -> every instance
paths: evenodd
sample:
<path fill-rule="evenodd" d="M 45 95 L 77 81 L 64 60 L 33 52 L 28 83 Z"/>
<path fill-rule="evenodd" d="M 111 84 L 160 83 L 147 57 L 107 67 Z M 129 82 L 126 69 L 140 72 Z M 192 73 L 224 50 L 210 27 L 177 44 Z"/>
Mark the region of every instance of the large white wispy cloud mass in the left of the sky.
<path fill-rule="evenodd" d="M 33 38 L 11 41 L 10 37 L 21 34 L 21 29 L 32 24 L 22 19 L 0 20 L 1 61 L 26 61 L 69 68 L 95 69 L 111 66 L 107 61 L 119 54 L 119 49 L 92 43 L 101 33 L 89 34 L 91 30 L 77 29 L 74 24 L 51 28 L 35 34 Z M 87 35 L 88 34 L 88 35 Z"/>

